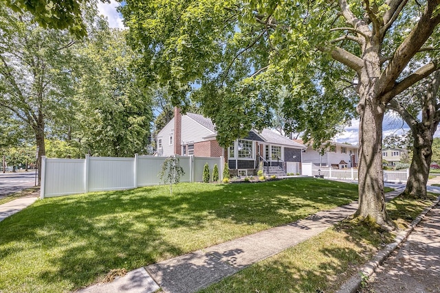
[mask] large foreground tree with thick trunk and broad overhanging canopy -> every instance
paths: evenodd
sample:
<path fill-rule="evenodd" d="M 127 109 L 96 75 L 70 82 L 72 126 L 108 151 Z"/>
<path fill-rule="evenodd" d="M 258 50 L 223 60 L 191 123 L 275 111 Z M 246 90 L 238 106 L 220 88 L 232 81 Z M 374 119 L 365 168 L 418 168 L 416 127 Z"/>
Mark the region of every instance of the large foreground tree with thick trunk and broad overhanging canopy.
<path fill-rule="evenodd" d="M 390 227 L 382 121 L 396 95 L 437 70 L 430 36 L 437 35 L 438 4 L 131 0 L 121 11 L 129 40 L 142 56 L 137 66 L 144 81 L 170 86 L 177 105 L 187 104 L 187 93 L 194 92 L 192 99 L 216 124 L 221 145 L 272 124 L 280 85 L 291 93 L 285 118 L 298 114 L 292 125 L 306 126 L 306 138 L 328 137 L 336 118 L 344 120 L 357 105 L 360 204 L 355 215 Z M 194 82 L 199 89 L 192 89 Z M 309 119 L 305 104 L 322 119 Z"/>

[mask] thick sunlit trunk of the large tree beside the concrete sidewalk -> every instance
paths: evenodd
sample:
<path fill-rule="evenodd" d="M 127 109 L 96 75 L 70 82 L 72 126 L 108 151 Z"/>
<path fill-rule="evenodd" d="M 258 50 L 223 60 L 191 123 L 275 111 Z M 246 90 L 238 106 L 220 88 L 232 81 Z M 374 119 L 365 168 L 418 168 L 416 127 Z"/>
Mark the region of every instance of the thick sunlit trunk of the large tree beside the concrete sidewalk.
<path fill-rule="evenodd" d="M 360 102 L 359 208 L 360 217 L 384 227 L 393 226 L 385 207 L 382 172 L 382 121 L 384 106 L 370 97 Z"/>

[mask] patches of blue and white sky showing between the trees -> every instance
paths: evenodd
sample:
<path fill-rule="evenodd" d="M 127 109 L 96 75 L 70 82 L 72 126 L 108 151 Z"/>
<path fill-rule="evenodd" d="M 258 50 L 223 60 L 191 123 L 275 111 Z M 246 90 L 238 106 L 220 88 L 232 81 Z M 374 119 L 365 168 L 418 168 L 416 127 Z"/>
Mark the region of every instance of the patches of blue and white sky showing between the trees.
<path fill-rule="evenodd" d="M 99 13 L 106 16 L 110 27 L 116 28 L 124 28 L 124 24 L 122 23 L 121 14 L 116 11 L 116 8 L 120 5 L 115 0 L 111 0 L 110 3 L 102 3 L 98 2 L 98 10 Z M 358 135 L 359 135 L 359 120 L 353 120 L 351 122 L 351 126 L 347 126 L 341 134 L 335 137 L 335 140 L 338 142 L 347 142 L 352 144 L 358 144 Z M 409 130 L 408 126 L 404 124 L 399 117 L 393 114 L 387 114 L 384 119 L 384 137 L 390 134 L 403 134 Z M 440 137 L 440 132 L 437 130 L 435 137 Z"/>

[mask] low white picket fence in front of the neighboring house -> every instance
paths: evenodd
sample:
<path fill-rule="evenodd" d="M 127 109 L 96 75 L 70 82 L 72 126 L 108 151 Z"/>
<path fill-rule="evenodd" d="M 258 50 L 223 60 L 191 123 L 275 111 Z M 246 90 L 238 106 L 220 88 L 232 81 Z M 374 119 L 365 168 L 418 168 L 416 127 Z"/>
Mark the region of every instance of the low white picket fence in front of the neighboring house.
<path fill-rule="evenodd" d="M 316 165 L 312 163 L 303 163 L 303 175 L 308 176 L 324 176 L 327 179 L 357 181 L 358 169 L 332 169 L 322 167 L 316 169 Z M 405 183 L 408 180 L 409 170 L 401 171 L 384 171 L 384 182 Z"/>

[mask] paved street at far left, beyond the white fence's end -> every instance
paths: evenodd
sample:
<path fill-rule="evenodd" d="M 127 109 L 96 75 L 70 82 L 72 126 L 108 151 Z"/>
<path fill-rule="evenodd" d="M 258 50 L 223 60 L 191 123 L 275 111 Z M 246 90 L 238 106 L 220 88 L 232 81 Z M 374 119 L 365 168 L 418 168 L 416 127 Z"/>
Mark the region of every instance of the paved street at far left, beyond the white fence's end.
<path fill-rule="evenodd" d="M 35 185 L 35 171 L 0 173 L 0 198 L 14 192 L 33 187 Z"/>

